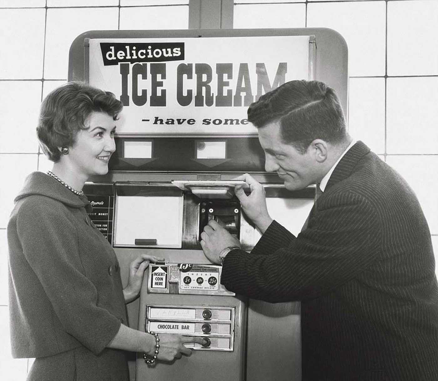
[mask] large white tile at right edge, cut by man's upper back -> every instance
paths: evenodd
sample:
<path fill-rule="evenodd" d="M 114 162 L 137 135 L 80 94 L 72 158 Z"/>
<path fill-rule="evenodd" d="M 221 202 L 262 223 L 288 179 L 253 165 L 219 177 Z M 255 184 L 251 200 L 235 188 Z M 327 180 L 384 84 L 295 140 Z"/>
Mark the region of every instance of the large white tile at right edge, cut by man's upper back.
<path fill-rule="evenodd" d="M 431 234 L 438 234 L 438 156 L 388 156 L 386 162 L 416 193 Z"/>

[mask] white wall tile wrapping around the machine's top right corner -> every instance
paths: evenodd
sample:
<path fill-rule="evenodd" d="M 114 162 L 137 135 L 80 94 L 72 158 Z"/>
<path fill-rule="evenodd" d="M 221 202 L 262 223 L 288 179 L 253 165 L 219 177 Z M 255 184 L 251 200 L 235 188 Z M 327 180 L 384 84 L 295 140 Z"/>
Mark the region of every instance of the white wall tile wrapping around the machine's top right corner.
<path fill-rule="evenodd" d="M 344 37 L 350 76 L 385 75 L 385 1 L 308 4 L 307 27 Z"/>

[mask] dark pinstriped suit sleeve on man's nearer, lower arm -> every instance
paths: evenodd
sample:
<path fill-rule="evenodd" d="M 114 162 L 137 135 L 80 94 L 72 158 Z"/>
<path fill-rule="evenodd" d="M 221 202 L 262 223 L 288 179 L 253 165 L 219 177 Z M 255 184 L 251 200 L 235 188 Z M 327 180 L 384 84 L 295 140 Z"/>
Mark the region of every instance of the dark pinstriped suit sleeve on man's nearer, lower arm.
<path fill-rule="evenodd" d="M 329 293 L 369 267 L 381 244 L 377 210 L 356 194 L 330 197 L 289 245 L 271 253 L 268 243 L 275 247 L 284 233 L 272 226 L 261 242 L 265 253 L 231 251 L 223 264 L 223 285 L 253 299 L 296 301 Z"/>

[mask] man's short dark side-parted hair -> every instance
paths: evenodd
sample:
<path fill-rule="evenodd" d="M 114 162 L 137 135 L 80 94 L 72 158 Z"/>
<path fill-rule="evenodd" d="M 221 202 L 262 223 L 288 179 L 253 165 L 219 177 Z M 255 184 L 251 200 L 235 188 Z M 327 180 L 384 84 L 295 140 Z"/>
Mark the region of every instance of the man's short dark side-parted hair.
<path fill-rule="evenodd" d="M 335 90 L 319 81 L 290 81 L 262 95 L 248 108 L 257 128 L 279 121 L 283 142 L 305 153 L 314 139 L 339 143 L 347 136 Z"/>

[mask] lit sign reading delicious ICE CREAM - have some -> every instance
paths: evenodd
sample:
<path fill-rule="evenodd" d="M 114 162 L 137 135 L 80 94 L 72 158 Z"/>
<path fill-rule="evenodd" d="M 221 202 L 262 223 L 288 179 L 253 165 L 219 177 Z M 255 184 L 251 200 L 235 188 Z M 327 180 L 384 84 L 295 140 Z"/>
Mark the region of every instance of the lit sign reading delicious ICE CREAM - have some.
<path fill-rule="evenodd" d="M 248 106 L 309 78 L 310 36 L 90 39 L 89 83 L 124 104 L 118 135 L 248 134 Z"/>

